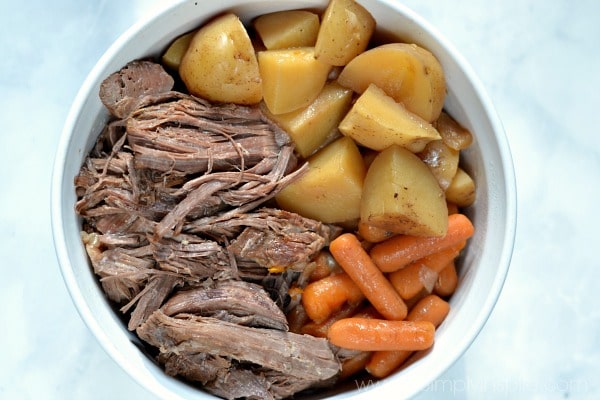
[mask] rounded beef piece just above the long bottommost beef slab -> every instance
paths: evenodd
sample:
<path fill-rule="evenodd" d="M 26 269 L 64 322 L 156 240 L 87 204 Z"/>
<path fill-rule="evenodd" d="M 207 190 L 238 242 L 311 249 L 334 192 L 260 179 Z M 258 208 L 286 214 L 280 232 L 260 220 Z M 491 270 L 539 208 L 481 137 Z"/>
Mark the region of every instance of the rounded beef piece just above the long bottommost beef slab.
<path fill-rule="evenodd" d="M 240 325 L 288 330 L 285 315 L 265 290 L 244 281 L 216 281 L 211 286 L 179 291 L 161 310 L 168 316 L 213 316 Z"/>

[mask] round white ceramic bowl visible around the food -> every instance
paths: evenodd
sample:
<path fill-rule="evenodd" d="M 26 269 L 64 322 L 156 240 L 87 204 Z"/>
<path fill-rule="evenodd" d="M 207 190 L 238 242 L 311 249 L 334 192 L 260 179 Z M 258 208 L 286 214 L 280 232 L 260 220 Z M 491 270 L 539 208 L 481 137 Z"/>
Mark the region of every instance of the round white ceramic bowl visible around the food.
<path fill-rule="evenodd" d="M 510 150 L 498 117 L 479 80 L 460 54 L 426 21 L 392 0 L 359 0 L 378 26 L 433 52 L 447 77 L 446 110 L 475 134 L 463 152 L 466 169 L 477 183 L 477 201 L 467 210 L 475 225 L 451 311 L 428 354 L 401 372 L 369 385 L 350 382 L 331 398 L 407 398 L 425 389 L 473 342 L 500 294 L 512 254 L 516 189 Z M 52 225 L 56 253 L 66 285 L 81 317 L 107 353 L 149 392 L 165 399 L 212 396 L 167 376 L 140 351 L 137 339 L 113 312 L 99 288 L 82 246 L 74 211 L 73 178 L 107 120 L 98 98 L 100 82 L 127 62 L 158 55 L 178 35 L 209 17 L 231 10 L 242 19 L 270 11 L 324 8 L 326 0 L 178 1 L 140 21 L 99 60 L 79 91 L 62 133 L 52 182 Z M 361 385 L 364 387 L 358 387 Z M 383 396 L 383 397 L 381 397 Z"/>

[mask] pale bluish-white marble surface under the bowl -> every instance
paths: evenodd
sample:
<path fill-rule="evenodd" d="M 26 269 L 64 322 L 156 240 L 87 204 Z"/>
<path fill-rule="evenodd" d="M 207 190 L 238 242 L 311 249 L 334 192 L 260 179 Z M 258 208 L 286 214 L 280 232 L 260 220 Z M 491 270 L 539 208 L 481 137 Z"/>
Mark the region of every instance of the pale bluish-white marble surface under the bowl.
<path fill-rule="evenodd" d="M 152 396 L 80 319 L 54 255 L 62 123 L 100 55 L 158 0 L 0 2 L 0 398 Z M 511 269 L 471 348 L 418 399 L 600 398 L 600 2 L 406 0 L 460 49 L 503 120 Z"/>

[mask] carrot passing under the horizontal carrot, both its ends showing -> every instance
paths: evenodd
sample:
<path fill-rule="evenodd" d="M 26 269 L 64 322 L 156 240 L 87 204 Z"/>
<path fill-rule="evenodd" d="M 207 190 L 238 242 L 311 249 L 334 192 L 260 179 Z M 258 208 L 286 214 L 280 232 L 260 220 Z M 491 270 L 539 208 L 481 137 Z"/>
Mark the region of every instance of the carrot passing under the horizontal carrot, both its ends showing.
<path fill-rule="evenodd" d="M 429 321 L 436 328 L 448 315 L 450 305 L 436 295 L 421 299 L 408 313 L 407 321 Z M 394 372 L 412 354 L 411 351 L 376 351 L 373 352 L 365 369 L 376 378 L 385 378 Z"/>

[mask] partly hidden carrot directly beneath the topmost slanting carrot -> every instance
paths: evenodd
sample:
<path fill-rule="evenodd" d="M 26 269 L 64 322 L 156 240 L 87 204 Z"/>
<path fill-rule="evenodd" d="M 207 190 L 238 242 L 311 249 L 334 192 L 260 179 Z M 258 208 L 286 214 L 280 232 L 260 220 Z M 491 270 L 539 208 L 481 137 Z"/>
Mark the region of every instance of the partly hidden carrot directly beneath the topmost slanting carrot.
<path fill-rule="evenodd" d="M 427 293 L 431 293 L 438 279 L 438 274 L 449 262 L 456 258 L 462 247 L 463 244 L 460 243 L 457 246 L 425 256 L 402 269 L 388 274 L 388 279 L 404 300 L 413 298 L 423 288 Z"/>

